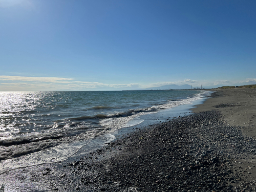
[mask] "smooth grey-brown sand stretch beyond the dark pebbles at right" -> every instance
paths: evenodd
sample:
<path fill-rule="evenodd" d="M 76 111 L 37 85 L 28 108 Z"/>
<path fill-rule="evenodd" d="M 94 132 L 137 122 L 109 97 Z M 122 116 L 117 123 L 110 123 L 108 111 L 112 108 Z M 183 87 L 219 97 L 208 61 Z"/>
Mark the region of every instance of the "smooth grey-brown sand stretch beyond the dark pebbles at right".
<path fill-rule="evenodd" d="M 256 90 L 215 90 L 213 98 L 196 105 L 193 112 L 218 110 L 227 124 L 242 126 L 243 134 L 256 138 Z"/>

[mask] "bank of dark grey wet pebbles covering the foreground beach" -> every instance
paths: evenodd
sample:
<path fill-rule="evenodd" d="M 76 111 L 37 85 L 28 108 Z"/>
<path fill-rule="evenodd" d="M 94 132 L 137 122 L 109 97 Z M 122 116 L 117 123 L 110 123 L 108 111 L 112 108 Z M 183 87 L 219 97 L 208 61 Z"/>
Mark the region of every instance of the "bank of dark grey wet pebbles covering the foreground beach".
<path fill-rule="evenodd" d="M 253 167 L 236 160 L 255 155 L 256 141 L 212 110 L 137 130 L 41 181 L 55 191 L 253 191 Z"/>

